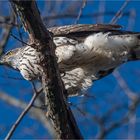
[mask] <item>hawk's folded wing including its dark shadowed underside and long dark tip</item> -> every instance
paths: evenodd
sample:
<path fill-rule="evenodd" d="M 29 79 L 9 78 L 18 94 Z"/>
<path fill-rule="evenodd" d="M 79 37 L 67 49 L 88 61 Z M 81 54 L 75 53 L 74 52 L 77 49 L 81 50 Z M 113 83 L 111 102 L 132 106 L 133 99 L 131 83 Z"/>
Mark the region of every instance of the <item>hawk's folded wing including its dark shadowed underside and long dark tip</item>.
<path fill-rule="evenodd" d="M 48 30 L 53 33 L 54 37 L 65 37 L 61 38 L 63 40 L 66 40 L 66 38 L 71 38 L 73 40 L 77 40 L 78 42 L 83 42 L 83 40 L 89 35 L 99 32 L 109 32 L 109 36 L 136 34 L 136 32 L 122 30 L 122 26 L 117 24 L 76 24 L 56 26 L 48 28 Z"/>

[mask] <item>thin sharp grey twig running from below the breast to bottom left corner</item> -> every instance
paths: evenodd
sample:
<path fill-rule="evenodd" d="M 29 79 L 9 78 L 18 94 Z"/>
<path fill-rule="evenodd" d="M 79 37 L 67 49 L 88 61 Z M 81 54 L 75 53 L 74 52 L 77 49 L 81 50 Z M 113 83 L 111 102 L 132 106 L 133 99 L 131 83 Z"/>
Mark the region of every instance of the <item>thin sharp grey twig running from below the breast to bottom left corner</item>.
<path fill-rule="evenodd" d="M 18 127 L 18 125 L 20 124 L 20 122 L 22 121 L 23 117 L 28 113 L 29 109 L 32 107 L 35 99 L 37 98 L 38 96 L 38 93 L 35 89 L 35 86 L 34 84 L 32 83 L 33 85 L 33 90 L 34 90 L 34 94 L 33 94 L 33 97 L 31 98 L 29 104 L 27 105 L 27 107 L 23 110 L 23 112 L 20 114 L 20 116 L 18 117 L 18 119 L 16 120 L 16 122 L 13 124 L 12 128 L 10 129 L 10 131 L 8 132 L 5 140 L 9 140 L 13 133 L 15 132 L 16 128 Z"/>

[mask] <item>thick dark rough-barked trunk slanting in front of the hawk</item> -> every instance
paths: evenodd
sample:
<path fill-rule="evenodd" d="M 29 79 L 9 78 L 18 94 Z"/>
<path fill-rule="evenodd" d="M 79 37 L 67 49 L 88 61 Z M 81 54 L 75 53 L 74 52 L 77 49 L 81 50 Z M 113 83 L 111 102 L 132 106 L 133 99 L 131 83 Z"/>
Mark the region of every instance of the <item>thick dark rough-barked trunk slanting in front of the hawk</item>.
<path fill-rule="evenodd" d="M 80 131 L 64 97 L 65 89 L 56 62 L 52 34 L 45 28 L 36 2 L 11 0 L 11 3 L 29 33 L 32 47 L 42 52 L 44 56 L 40 64 L 43 69 L 42 87 L 47 95 L 47 115 L 56 130 L 57 138 L 81 139 Z"/>

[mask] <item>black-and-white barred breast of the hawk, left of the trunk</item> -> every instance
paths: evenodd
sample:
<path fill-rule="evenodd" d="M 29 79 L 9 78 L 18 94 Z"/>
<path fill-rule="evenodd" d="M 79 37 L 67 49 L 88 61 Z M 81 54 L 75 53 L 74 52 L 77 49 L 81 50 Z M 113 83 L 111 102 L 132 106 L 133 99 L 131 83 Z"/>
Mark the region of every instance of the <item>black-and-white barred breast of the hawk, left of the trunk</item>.
<path fill-rule="evenodd" d="M 40 63 L 43 56 L 30 46 L 22 49 L 19 55 L 18 69 L 26 80 L 33 80 L 42 73 Z"/>

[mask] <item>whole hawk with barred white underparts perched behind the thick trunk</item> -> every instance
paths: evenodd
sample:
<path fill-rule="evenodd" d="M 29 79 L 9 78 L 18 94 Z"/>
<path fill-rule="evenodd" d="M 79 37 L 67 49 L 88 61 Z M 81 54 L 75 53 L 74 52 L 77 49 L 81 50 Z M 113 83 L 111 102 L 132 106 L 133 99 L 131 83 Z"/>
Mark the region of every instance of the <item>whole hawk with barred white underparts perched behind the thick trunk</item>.
<path fill-rule="evenodd" d="M 78 24 L 49 28 L 53 33 L 62 80 L 69 95 L 79 95 L 93 81 L 127 61 L 140 59 L 140 33 L 119 25 Z M 31 46 L 10 50 L 0 63 L 18 69 L 26 80 L 41 76 L 41 53 Z"/>

